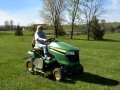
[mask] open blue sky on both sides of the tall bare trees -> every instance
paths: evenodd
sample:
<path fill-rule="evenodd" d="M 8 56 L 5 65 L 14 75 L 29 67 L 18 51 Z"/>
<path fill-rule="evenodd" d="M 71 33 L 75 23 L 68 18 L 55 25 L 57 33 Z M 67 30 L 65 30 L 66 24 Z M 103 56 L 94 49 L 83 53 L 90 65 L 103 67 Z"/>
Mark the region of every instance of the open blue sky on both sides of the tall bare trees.
<path fill-rule="evenodd" d="M 107 22 L 120 22 L 120 0 L 106 0 L 108 12 L 102 16 Z M 13 20 L 14 24 L 43 23 L 39 11 L 42 0 L 0 0 L 0 25 Z"/>

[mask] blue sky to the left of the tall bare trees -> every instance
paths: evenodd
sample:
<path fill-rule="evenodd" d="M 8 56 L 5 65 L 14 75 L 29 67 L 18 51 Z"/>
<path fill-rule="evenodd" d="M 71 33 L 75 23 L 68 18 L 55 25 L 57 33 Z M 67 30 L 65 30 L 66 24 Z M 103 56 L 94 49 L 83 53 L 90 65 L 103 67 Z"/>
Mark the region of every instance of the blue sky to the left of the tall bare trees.
<path fill-rule="evenodd" d="M 0 25 L 13 20 L 14 24 L 42 23 L 39 11 L 41 0 L 0 0 Z"/>

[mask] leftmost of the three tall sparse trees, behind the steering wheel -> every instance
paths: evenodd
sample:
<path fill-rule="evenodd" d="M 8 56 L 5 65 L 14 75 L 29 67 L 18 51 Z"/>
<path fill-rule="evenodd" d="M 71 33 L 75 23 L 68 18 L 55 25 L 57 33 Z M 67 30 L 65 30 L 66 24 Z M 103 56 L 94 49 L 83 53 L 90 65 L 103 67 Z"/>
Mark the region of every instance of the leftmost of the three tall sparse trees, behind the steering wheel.
<path fill-rule="evenodd" d="M 43 0 L 43 4 L 43 11 L 40 13 L 47 23 L 53 24 L 57 37 L 59 26 L 61 26 L 62 13 L 65 9 L 65 0 Z"/>

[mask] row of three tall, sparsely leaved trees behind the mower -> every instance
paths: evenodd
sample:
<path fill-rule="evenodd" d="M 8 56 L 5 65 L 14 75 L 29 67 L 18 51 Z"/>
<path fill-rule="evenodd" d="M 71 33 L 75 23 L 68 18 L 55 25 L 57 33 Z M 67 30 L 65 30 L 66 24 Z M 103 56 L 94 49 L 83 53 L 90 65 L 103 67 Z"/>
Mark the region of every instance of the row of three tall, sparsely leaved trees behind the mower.
<path fill-rule="evenodd" d="M 56 37 L 58 37 L 58 32 L 64 31 L 62 23 L 66 21 L 65 15 L 69 16 L 71 39 L 73 38 L 75 24 L 81 24 L 81 21 L 83 21 L 82 23 L 86 25 L 87 39 L 89 40 L 92 25 L 97 23 L 94 20 L 106 12 L 104 5 L 105 0 L 43 0 L 43 8 L 40 14 L 46 23 L 53 25 Z"/>

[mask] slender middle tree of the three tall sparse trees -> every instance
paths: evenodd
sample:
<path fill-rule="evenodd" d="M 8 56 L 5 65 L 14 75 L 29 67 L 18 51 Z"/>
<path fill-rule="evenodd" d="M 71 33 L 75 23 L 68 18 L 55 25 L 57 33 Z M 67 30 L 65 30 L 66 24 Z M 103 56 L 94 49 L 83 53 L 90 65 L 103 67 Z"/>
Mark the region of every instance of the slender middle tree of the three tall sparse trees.
<path fill-rule="evenodd" d="M 71 17 L 71 39 L 73 38 L 73 30 L 75 26 L 75 19 L 79 9 L 80 0 L 67 0 L 68 2 L 68 13 Z"/>

